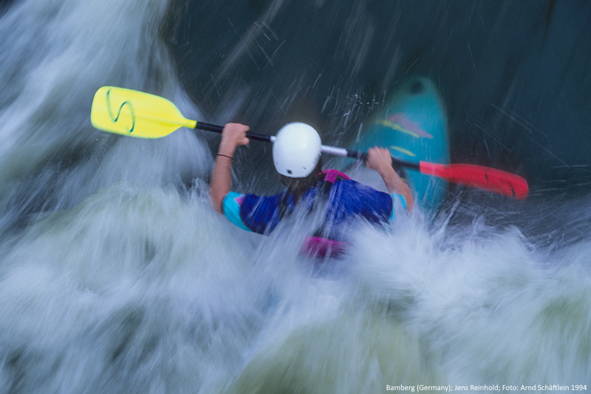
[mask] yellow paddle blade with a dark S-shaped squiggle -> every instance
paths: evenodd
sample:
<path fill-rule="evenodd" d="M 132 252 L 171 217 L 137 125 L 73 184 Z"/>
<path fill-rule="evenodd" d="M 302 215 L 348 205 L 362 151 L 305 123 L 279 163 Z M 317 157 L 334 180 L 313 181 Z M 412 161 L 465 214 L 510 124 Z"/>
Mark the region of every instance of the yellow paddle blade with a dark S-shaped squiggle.
<path fill-rule="evenodd" d="M 99 130 L 138 138 L 160 138 L 197 124 L 164 97 L 115 86 L 96 91 L 90 122 Z"/>

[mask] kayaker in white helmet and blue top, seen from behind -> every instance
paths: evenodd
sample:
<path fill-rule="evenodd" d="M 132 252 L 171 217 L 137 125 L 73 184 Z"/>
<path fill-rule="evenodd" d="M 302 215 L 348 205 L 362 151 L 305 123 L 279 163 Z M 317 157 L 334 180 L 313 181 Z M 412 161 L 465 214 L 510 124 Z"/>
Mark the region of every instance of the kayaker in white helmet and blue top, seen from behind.
<path fill-rule="evenodd" d="M 307 238 L 303 250 L 311 255 L 337 255 L 346 245 L 339 239 L 339 225 L 359 216 L 370 223 L 386 224 L 393 219 L 397 204 L 407 211 L 413 209 L 413 194 L 392 168 L 388 149 L 371 148 L 366 160 L 367 167 L 384 180 L 388 193 L 383 193 L 340 171 L 323 171 L 320 136 L 305 123 L 288 123 L 273 144 L 273 162 L 285 190 L 274 196 L 231 191 L 232 160 L 236 148 L 248 144 L 248 130 L 239 123 L 225 125 L 210 184 L 215 209 L 244 230 L 268 234 L 296 206 L 305 204 L 310 211 L 319 200 L 326 201 L 324 225 Z"/>

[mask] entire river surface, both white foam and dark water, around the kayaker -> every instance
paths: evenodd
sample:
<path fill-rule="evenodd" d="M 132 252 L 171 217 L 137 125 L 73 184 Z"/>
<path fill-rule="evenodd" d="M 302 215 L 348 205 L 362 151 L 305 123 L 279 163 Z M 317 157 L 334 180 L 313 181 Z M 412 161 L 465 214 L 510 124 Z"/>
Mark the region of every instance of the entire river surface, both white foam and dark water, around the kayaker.
<path fill-rule="evenodd" d="M 0 393 L 591 390 L 590 27 L 560 0 L 1 2 Z M 345 146 L 415 76 L 452 161 L 531 195 L 450 187 L 339 261 L 298 255 L 306 220 L 262 237 L 213 211 L 218 135 L 89 120 L 121 86 Z M 280 187 L 265 144 L 235 167 Z"/>

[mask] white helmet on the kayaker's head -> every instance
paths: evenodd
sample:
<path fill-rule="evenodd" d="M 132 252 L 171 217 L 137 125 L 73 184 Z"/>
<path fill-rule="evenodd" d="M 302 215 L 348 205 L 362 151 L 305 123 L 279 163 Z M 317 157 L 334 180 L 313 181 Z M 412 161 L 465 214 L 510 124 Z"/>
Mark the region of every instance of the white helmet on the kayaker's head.
<path fill-rule="evenodd" d="M 287 123 L 273 142 L 273 162 L 281 175 L 305 178 L 314 171 L 322 142 L 314 128 L 306 123 Z"/>

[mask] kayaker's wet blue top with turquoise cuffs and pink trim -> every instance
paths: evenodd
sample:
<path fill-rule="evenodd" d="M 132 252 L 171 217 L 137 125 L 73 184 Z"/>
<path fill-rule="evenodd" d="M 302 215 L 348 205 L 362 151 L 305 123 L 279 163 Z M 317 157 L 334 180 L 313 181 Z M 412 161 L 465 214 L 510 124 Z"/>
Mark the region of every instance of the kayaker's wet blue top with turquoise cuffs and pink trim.
<path fill-rule="evenodd" d="M 314 207 L 317 195 L 326 194 L 326 218 L 322 229 L 307 237 L 301 252 L 311 256 L 335 256 L 345 250 L 339 227 L 356 217 L 364 217 L 374 224 L 386 224 L 394 219 L 395 204 L 406 209 L 400 194 L 387 194 L 351 180 L 337 170 L 324 170 L 316 187 L 301 196 L 300 204 L 308 211 Z M 285 214 L 296 208 L 296 197 L 282 191 L 274 196 L 228 193 L 223 201 L 223 213 L 241 229 L 267 235 L 279 224 Z"/>

